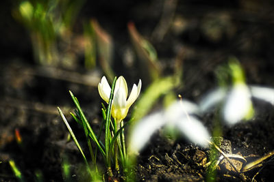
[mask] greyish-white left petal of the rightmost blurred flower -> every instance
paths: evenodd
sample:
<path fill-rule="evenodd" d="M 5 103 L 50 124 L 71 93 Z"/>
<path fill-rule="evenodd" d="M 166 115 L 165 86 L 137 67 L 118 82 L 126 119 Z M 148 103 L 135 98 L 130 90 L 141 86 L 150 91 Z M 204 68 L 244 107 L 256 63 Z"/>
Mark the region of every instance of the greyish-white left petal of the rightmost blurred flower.
<path fill-rule="evenodd" d="M 201 102 L 199 103 L 199 107 L 201 112 L 207 112 L 213 106 L 216 106 L 219 102 L 224 100 L 226 97 L 226 89 L 218 88 L 214 89 L 210 93 L 203 97 Z"/>

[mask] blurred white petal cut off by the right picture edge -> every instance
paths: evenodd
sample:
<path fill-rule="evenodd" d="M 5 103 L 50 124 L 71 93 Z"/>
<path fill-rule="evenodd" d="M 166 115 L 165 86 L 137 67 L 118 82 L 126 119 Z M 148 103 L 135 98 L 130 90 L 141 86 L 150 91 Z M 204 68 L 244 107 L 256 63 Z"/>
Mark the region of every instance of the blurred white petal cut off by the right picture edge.
<path fill-rule="evenodd" d="M 274 105 L 274 89 L 267 87 L 250 87 L 251 95 Z"/>

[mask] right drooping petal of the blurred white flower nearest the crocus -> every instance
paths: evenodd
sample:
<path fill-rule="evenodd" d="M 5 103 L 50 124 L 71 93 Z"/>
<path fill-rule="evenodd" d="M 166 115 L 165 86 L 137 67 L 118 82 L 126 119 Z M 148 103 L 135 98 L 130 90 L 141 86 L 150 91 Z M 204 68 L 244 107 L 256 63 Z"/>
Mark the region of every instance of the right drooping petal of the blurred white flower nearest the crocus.
<path fill-rule="evenodd" d="M 201 147 L 208 147 L 210 134 L 206 127 L 195 117 L 183 117 L 176 123 L 177 128 L 190 140 Z"/>

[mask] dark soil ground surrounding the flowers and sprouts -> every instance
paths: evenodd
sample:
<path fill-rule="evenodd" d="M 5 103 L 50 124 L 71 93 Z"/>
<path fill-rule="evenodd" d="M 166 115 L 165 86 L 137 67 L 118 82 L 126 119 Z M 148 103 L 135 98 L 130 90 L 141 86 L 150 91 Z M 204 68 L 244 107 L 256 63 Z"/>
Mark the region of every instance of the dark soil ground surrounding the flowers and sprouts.
<path fill-rule="evenodd" d="M 81 51 L 75 53 L 73 67 L 38 65 L 32 57 L 27 31 L 12 18 L 15 4 L 1 3 L 0 181 L 16 181 L 9 160 L 14 160 L 25 181 L 39 179 L 39 175 L 44 181 L 69 181 L 62 174 L 66 160 L 71 167 L 70 180 L 86 181 L 82 157 L 73 141 L 67 141 L 69 132 L 56 107 L 62 108 L 85 149 L 84 133 L 69 116 L 75 107 L 69 90 L 77 96 L 97 131 L 101 122 L 97 83 L 79 80 L 88 76 L 99 82 L 102 71 L 99 67 L 85 70 Z M 113 37 L 116 74 L 125 76 L 129 85 L 138 78 L 145 81 L 146 75 L 138 75 L 136 67 L 127 64 L 128 52 L 130 59 L 138 61 L 127 33 L 127 23 L 132 21 L 140 34 L 155 46 L 164 75 L 173 72 L 175 59 L 184 55 L 184 86 L 175 92 L 198 102 L 217 86 L 216 67 L 226 65 L 230 56 L 240 60 L 248 84 L 274 87 L 273 7 L 270 0 L 87 1 L 75 23 L 73 40 L 76 50 L 82 22 L 97 18 Z M 168 24 L 161 25 L 165 18 Z M 169 29 L 162 33 L 165 26 Z M 146 85 L 142 91 L 145 88 Z M 254 100 L 254 106 L 256 117 L 251 121 L 233 127 L 222 125 L 223 140 L 231 144 L 233 154 L 245 157 L 247 163 L 274 150 L 273 106 L 258 100 Z M 201 118 L 210 132 L 216 112 L 213 110 Z M 21 135 L 21 144 L 16 140 L 16 132 Z M 209 149 L 191 145 L 184 138 L 164 138 L 160 130 L 138 156 L 136 179 L 210 181 L 212 173 L 206 165 L 210 162 L 210 153 Z M 240 174 L 226 163 L 216 167 L 216 181 L 251 181 L 253 177 L 256 181 L 273 181 L 272 156 L 257 168 Z"/>

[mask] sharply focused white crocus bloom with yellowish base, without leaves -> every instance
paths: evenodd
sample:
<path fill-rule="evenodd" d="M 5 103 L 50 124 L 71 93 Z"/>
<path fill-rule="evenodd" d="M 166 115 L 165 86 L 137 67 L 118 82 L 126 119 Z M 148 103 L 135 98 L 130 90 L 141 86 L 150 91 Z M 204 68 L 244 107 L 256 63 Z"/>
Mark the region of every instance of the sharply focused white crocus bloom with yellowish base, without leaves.
<path fill-rule="evenodd" d="M 123 76 L 119 76 L 116 80 L 111 110 L 112 117 L 116 119 L 116 121 L 119 122 L 125 119 L 129 107 L 132 106 L 140 94 L 141 87 L 142 82 L 139 80 L 138 86 L 136 86 L 136 84 L 133 85 L 132 92 L 127 98 L 127 82 L 125 81 L 125 78 Z M 101 82 L 99 82 L 98 91 L 102 99 L 109 103 L 111 88 L 105 76 L 103 76 Z"/>

